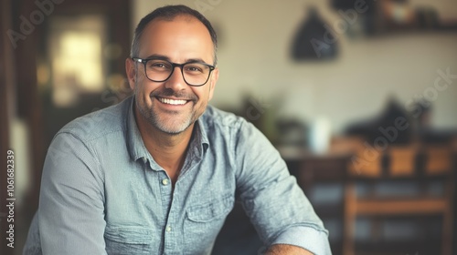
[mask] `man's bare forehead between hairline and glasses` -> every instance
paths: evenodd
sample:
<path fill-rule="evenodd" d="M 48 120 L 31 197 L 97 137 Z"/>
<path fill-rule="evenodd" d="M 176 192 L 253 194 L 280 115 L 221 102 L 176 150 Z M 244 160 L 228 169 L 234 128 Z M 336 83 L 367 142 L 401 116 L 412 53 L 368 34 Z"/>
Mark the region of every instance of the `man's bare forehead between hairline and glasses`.
<path fill-rule="evenodd" d="M 214 46 L 207 27 L 193 16 L 157 18 L 144 27 L 140 38 L 140 56 L 167 56 L 174 61 L 203 58 L 212 61 Z M 209 57 L 209 58 L 208 58 Z"/>

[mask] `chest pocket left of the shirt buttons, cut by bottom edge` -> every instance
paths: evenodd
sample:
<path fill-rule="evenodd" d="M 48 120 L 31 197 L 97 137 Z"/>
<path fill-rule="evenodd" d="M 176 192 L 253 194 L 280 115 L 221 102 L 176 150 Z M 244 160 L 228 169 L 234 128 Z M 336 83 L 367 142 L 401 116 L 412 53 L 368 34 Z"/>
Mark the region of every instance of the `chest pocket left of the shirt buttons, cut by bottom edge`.
<path fill-rule="evenodd" d="M 110 227 L 105 229 L 106 252 L 114 254 L 151 254 L 153 231 L 136 226 Z"/>

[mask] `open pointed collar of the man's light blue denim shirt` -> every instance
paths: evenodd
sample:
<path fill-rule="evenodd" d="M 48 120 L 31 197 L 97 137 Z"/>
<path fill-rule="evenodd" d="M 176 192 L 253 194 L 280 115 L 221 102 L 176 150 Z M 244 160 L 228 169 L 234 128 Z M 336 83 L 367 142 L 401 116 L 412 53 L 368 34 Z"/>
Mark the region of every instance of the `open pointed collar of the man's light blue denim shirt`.
<path fill-rule="evenodd" d="M 135 98 L 134 96 L 130 98 L 130 107 L 127 114 L 127 145 L 130 154 L 130 158 L 136 161 L 138 158 L 143 158 L 145 161 L 146 158 L 149 158 L 149 152 L 144 146 L 143 138 L 141 136 L 140 130 L 136 125 L 134 117 L 134 107 L 135 107 Z M 204 121 L 202 117 L 199 117 L 194 125 L 194 135 L 190 141 L 189 151 L 196 153 L 196 156 L 201 158 L 203 153 L 207 151 L 209 147 L 209 141 L 207 138 L 207 131 L 204 127 Z"/>

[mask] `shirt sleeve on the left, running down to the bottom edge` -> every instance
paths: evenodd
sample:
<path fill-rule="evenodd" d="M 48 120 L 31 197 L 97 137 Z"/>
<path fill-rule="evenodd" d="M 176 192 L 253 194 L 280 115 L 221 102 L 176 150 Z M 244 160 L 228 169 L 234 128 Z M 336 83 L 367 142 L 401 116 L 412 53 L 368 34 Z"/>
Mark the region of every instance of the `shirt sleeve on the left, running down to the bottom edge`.
<path fill-rule="evenodd" d="M 53 139 L 38 207 L 43 254 L 106 254 L 99 166 L 79 138 L 59 133 Z"/>

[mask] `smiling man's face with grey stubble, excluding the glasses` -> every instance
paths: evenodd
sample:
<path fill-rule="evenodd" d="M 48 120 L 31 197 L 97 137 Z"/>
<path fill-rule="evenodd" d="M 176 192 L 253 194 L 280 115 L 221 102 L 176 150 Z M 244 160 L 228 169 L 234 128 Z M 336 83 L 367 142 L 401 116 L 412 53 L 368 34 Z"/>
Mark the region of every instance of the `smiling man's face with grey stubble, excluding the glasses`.
<path fill-rule="evenodd" d="M 207 27 L 194 17 L 159 19 L 144 28 L 138 57 L 155 56 L 177 64 L 198 59 L 213 65 L 214 46 Z M 194 124 L 205 112 L 218 80 L 218 68 L 201 87 L 188 86 L 179 67 L 164 82 L 149 80 L 143 64 L 133 63 L 132 59 L 127 59 L 126 68 L 139 117 L 167 134 L 179 134 Z"/>

